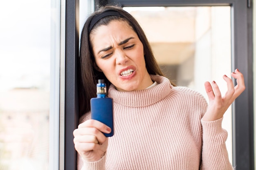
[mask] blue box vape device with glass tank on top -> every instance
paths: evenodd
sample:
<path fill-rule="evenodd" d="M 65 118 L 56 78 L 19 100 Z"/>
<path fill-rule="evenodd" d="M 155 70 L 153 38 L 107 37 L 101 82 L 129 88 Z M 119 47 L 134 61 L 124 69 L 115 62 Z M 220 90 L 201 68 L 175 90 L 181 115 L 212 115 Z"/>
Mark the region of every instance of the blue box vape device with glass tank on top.
<path fill-rule="evenodd" d="M 97 98 L 91 98 L 92 119 L 98 120 L 111 128 L 110 133 L 104 133 L 106 137 L 114 135 L 113 102 L 107 97 L 107 87 L 103 79 L 98 80 Z"/>

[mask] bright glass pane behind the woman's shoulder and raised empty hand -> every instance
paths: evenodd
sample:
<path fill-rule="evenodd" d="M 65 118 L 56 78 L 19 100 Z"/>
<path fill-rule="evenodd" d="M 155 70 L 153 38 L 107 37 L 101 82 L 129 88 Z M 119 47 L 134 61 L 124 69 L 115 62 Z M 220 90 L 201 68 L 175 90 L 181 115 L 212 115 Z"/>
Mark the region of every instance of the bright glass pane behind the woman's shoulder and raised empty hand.
<path fill-rule="evenodd" d="M 141 24 L 164 74 L 178 86 L 204 95 L 205 81 L 227 91 L 231 77 L 230 7 L 124 7 Z M 232 162 L 231 107 L 222 121 Z"/>

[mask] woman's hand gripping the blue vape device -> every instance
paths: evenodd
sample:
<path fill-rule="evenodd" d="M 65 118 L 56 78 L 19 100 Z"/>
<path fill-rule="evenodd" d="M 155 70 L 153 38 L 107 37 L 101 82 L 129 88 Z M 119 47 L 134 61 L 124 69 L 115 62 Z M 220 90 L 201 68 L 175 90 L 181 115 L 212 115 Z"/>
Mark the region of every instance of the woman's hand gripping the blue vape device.
<path fill-rule="evenodd" d="M 110 131 L 110 127 L 97 120 L 79 124 L 73 132 L 76 151 L 86 161 L 98 161 L 108 148 L 108 138 L 103 133 Z"/>

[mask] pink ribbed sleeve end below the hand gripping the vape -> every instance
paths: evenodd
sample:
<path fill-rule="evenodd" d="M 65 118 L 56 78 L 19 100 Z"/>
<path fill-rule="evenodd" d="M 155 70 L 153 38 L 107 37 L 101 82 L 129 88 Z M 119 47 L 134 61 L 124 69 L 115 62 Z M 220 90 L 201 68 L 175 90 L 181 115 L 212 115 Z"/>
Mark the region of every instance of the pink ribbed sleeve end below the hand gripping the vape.
<path fill-rule="evenodd" d="M 105 170 L 106 155 L 107 153 L 99 161 L 88 162 L 77 154 L 77 170 Z"/>

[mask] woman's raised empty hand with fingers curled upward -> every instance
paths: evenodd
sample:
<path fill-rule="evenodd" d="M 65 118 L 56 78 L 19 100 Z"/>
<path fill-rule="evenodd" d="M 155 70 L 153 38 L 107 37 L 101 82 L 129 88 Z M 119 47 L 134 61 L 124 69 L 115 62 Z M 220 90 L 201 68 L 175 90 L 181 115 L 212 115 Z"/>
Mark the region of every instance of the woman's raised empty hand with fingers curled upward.
<path fill-rule="evenodd" d="M 224 75 L 223 78 L 227 82 L 227 92 L 223 97 L 215 81 L 212 82 L 212 85 L 209 82 L 204 83 L 209 105 L 202 118 L 203 121 L 214 121 L 222 118 L 232 102 L 245 90 L 243 74 L 236 69 L 235 72 L 231 73 L 231 76 L 236 78 L 237 85 L 234 87 L 231 78 Z"/>

